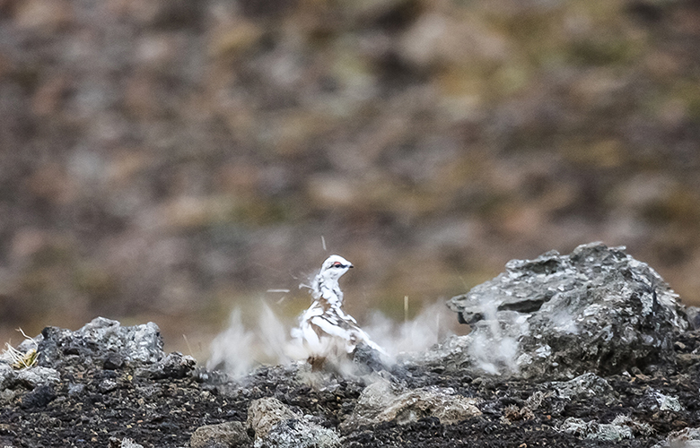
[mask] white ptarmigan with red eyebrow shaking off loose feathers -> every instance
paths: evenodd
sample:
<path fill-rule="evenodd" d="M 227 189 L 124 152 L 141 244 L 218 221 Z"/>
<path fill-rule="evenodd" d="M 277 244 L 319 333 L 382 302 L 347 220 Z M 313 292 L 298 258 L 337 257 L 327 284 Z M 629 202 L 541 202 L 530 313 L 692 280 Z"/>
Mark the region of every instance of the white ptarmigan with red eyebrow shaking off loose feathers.
<path fill-rule="evenodd" d="M 361 342 L 384 353 L 370 340 L 350 314 L 343 311 L 343 291 L 337 280 L 353 264 L 340 255 L 330 255 L 311 282 L 313 303 L 300 317 L 292 336 L 300 340 L 308 354 L 312 371 L 320 370 L 327 358 L 346 358 Z"/>

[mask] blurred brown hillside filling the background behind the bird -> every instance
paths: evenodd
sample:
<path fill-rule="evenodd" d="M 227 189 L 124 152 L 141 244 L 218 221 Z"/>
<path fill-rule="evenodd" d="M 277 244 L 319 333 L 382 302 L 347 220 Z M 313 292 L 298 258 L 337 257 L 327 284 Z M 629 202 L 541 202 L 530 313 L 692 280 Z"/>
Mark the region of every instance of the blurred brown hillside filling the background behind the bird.
<path fill-rule="evenodd" d="M 0 341 L 206 357 L 330 253 L 362 322 L 595 240 L 700 302 L 700 1 L 0 0 Z"/>

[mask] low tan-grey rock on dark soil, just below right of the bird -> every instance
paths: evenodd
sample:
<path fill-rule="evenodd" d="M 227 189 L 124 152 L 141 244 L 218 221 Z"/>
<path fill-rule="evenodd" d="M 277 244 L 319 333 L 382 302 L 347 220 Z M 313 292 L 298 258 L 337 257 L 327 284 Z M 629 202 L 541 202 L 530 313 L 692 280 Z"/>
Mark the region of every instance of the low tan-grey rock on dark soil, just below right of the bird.
<path fill-rule="evenodd" d="M 455 394 L 451 388 L 428 386 L 402 391 L 387 381 L 367 386 L 350 418 L 340 425 L 343 431 L 396 421 L 399 425 L 420 418 L 434 417 L 443 425 L 453 425 L 481 414 L 477 400 Z"/>

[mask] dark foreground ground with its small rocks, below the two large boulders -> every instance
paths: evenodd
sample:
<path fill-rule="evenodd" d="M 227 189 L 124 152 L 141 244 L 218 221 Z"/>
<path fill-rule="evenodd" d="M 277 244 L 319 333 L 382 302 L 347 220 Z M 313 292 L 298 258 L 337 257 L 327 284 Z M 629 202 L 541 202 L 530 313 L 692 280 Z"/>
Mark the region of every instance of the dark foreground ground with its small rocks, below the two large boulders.
<path fill-rule="evenodd" d="M 700 332 L 677 336 L 678 356 L 700 348 Z M 455 353 L 459 348 L 451 347 Z M 62 353 L 60 346 L 56 349 Z M 683 369 L 669 361 L 653 376 L 633 368 L 634 375 L 587 373 L 569 381 L 473 376 L 419 365 L 363 377 L 328 374 L 311 385 L 302 382 L 306 377 L 296 365 L 261 366 L 241 380 L 223 374 L 158 380 L 136 375 L 150 367 L 163 371 L 185 358 L 173 354 L 146 366 L 125 361 L 115 371 L 65 355 L 65 362 L 57 362 L 61 381 L 37 383 L 31 392 L 17 375 L 48 367 L 15 371 L 0 363 L 0 375 L 17 386 L 0 391 L 0 447 L 83 440 L 112 448 L 442 447 L 464 441 L 485 447 L 537 441 L 562 447 L 646 447 L 663 441 L 658 448 L 680 448 L 699 438 L 691 430 L 669 435 L 678 427 L 700 425 L 697 361 Z M 390 380 L 366 385 L 382 375 Z M 270 396 L 278 400 L 260 398 Z"/>

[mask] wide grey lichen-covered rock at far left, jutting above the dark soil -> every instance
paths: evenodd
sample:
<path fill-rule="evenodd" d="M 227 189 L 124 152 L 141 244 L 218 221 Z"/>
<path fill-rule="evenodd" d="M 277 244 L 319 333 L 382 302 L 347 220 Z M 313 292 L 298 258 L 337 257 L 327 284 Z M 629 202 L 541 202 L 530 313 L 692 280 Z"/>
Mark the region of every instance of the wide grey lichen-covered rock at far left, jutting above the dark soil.
<path fill-rule="evenodd" d="M 161 330 L 152 322 L 125 327 L 97 317 L 75 332 L 47 327 L 34 340 L 39 344 L 42 366 L 55 366 L 71 356 L 101 361 L 107 368 L 118 366 L 115 359 L 148 364 L 164 356 Z"/>

